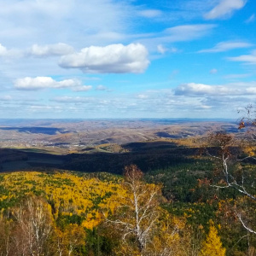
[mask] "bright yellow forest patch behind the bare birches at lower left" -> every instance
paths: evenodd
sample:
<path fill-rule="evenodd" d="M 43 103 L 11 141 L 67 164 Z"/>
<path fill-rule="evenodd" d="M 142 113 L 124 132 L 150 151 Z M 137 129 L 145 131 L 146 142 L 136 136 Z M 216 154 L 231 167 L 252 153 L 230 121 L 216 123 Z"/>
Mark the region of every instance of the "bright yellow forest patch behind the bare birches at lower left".
<path fill-rule="evenodd" d="M 116 180 L 78 176 L 72 172 L 13 172 L 1 174 L 0 186 L 6 193 L 0 201 L 9 202 L 26 195 L 41 195 L 54 208 L 54 217 L 77 214 L 84 217 L 82 225 L 92 229 L 102 222 L 104 212 L 118 206 L 125 190 Z M 1 211 L 1 209 L 0 209 Z"/>

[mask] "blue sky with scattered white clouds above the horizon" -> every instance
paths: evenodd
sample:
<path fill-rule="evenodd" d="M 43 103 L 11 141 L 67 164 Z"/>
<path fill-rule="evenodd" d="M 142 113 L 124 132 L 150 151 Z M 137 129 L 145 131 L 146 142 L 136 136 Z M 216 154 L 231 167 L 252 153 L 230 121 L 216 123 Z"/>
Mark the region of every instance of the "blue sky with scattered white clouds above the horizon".
<path fill-rule="evenodd" d="M 255 0 L 0 0 L 0 118 L 236 118 Z"/>

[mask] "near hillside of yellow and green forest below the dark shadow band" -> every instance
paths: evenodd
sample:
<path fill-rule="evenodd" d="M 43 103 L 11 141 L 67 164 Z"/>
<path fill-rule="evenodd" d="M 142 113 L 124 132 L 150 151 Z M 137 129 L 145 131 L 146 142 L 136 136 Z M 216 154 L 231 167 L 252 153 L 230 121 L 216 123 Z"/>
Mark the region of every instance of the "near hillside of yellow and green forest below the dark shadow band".
<path fill-rule="evenodd" d="M 3 173 L 1 253 L 247 255 L 254 252 L 254 237 L 241 226 L 234 212 L 234 206 L 249 210 L 253 204 L 235 191 L 220 190 L 217 194 L 207 177 L 196 179 L 196 174 L 210 175 L 208 168 L 215 166 L 209 160 L 199 170 L 203 163 L 198 160 L 195 166 L 155 170 L 146 176 L 137 166 L 125 167 L 124 177 L 103 172 Z"/>

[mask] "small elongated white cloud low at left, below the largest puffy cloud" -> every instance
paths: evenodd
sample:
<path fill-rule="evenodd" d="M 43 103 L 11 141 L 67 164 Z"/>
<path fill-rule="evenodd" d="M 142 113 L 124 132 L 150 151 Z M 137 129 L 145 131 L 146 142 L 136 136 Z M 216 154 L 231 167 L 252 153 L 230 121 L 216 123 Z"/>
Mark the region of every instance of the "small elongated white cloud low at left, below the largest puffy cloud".
<path fill-rule="evenodd" d="M 74 86 L 81 86 L 81 82 L 75 79 L 66 79 L 62 81 L 55 81 L 49 77 L 37 77 L 15 80 L 15 89 L 17 90 L 42 90 L 45 88 L 70 88 Z"/>

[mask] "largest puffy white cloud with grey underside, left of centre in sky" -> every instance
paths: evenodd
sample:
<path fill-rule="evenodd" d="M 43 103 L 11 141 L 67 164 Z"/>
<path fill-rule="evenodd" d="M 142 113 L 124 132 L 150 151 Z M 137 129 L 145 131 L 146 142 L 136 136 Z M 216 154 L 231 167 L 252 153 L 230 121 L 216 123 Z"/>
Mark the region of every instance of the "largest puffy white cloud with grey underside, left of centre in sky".
<path fill-rule="evenodd" d="M 143 44 L 90 46 L 61 57 L 59 65 L 79 68 L 84 73 L 143 73 L 148 67 L 148 50 Z"/>

